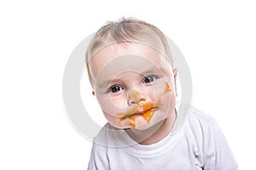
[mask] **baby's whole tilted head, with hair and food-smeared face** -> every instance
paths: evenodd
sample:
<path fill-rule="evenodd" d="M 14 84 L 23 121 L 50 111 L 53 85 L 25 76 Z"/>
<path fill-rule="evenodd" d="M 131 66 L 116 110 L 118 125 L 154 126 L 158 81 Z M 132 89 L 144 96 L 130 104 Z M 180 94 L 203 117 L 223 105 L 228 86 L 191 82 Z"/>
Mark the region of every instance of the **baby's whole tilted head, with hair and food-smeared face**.
<path fill-rule="evenodd" d="M 114 127 L 143 130 L 175 111 L 177 72 L 157 27 L 109 22 L 91 39 L 86 62 L 93 94 Z"/>

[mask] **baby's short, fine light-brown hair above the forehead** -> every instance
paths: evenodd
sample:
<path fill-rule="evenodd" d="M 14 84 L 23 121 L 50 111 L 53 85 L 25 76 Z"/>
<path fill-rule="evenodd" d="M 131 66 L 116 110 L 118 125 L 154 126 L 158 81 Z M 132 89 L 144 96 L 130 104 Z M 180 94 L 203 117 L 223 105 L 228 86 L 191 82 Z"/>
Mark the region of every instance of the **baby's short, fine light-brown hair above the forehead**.
<path fill-rule="evenodd" d="M 173 68 L 173 59 L 171 50 L 165 35 L 156 26 L 148 24 L 143 20 L 134 18 L 121 18 L 117 21 L 109 21 L 102 26 L 94 37 L 91 38 L 90 44 L 86 50 L 85 60 L 88 71 L 90 84 L 93 87 L 93 79 L 90 72 L 90 59 L 102 48 L 113 43 L 137 42 L 143 43 L 151 48 L 156 49 L 166 56 Z"/>

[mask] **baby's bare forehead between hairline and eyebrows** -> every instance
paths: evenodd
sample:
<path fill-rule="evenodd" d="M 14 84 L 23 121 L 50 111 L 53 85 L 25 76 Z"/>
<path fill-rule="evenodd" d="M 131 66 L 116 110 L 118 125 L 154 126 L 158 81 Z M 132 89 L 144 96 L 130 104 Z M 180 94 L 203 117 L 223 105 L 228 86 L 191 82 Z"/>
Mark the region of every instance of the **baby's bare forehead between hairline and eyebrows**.
<path fill-rule="evenodd" d="M 171 71 L 170 66 L 165 55 L 141 44 L 103 48 L 94 56 L 90 65 L 93 76 L 99 79 L 116 77 L 127 71 L 143 75 L 161 74 L 162 71 Z"/>

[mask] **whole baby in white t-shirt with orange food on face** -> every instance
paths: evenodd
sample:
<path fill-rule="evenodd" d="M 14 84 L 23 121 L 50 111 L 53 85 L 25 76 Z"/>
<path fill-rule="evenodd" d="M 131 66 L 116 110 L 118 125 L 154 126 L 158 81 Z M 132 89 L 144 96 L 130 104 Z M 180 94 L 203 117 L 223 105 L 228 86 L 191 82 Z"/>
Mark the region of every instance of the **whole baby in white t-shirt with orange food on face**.
<path fill-rule="evenodd" d="M 177 69 L 157 27 L 109 22 L 91 39 L 86 62 L 108 120 L 94 139 L 89 170 L 237 169 L 210 116 L 193 107 L 177 111 Z"/>

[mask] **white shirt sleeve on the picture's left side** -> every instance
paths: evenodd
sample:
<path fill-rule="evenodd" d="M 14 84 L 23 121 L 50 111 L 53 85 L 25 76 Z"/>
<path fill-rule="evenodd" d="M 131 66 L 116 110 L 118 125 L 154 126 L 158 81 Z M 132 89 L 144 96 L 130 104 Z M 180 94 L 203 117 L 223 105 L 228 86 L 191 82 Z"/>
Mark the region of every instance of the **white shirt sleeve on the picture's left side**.
<path fill-rule="evenodd" d="M 90 161 L 87 170 L 109 169 L 107 147 L 94 143 L 90 152 Z"/>

